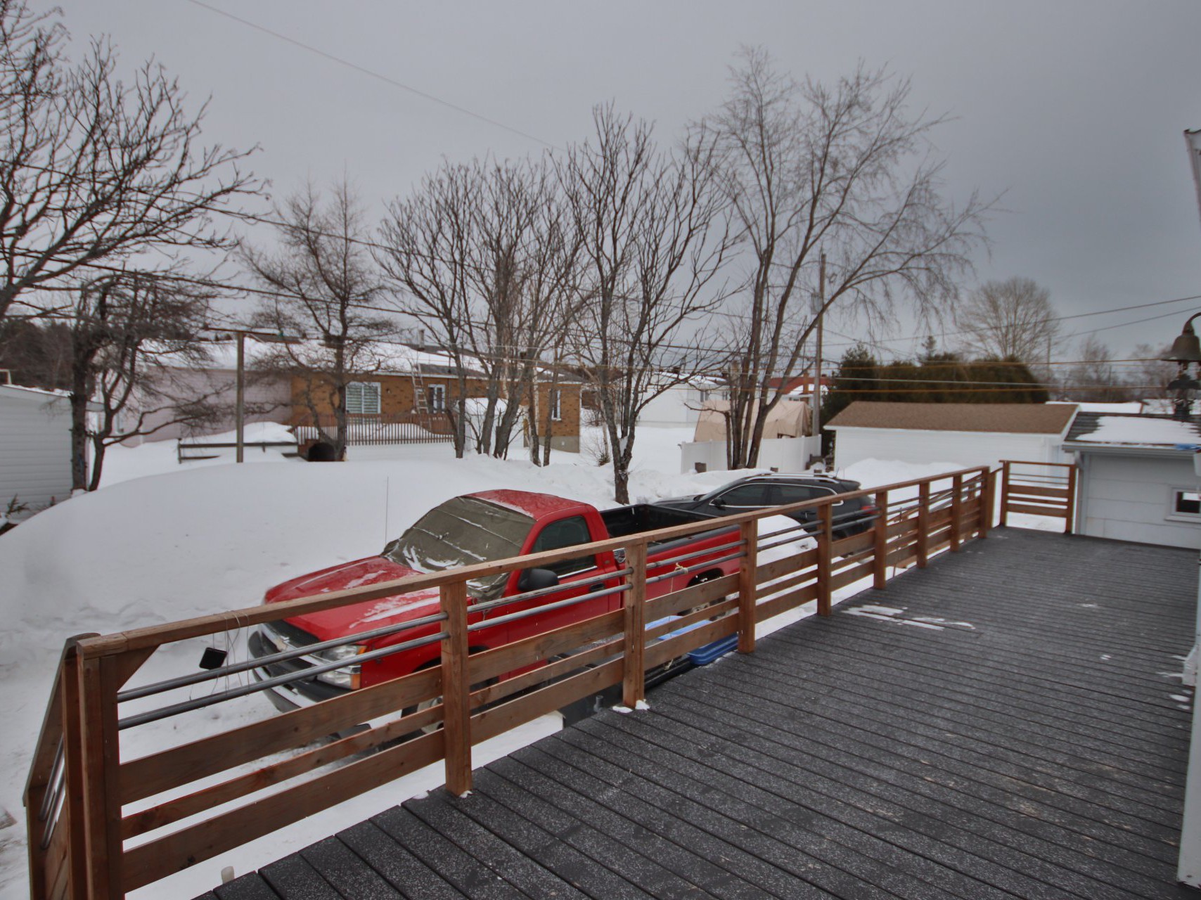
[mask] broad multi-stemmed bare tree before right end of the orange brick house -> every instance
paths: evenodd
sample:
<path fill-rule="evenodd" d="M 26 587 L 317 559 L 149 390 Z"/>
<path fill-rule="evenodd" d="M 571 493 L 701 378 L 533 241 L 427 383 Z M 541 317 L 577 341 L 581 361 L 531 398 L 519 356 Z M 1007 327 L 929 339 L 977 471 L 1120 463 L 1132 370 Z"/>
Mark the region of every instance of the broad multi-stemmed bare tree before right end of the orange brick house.
<path fill-rule="evenodd" d="M 538 364 L 562 339 L 575 300 L 576 242 L 544 161 L 444 165 L 389 207 L 381 264 L 459 370 L 459 422 L 467 371 L 484 380 L 472 417 L 478 453 L 508 453 Z M 460 427 L 461 428 L 461 427 Z M 462 429 L 456 443 L 466 445 Z"/>

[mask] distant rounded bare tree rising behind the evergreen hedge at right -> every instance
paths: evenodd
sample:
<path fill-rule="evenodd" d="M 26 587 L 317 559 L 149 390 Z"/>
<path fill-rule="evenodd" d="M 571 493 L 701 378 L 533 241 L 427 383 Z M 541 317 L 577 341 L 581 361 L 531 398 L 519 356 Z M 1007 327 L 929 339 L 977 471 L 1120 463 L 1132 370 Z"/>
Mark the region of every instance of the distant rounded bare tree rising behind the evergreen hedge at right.
<path fill-rule="evenodd" d="M 955 310 L 962 352 L 976 358 L 1051 362 L 1059 322 L 1051 292 L 1028 278 L 987 281 Z"/>

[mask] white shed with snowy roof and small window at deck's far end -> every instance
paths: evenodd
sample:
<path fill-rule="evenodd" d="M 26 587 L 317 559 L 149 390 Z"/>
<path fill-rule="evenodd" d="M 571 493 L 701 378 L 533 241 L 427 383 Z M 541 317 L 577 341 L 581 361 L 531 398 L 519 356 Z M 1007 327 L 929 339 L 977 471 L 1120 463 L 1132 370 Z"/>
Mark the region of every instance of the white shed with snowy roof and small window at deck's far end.
<path fill-rule="evenodd" d="M 1193 422 L 1080 413 L 1064 443 L 1080 467 L 1077 534 L 1201 549 L 1199 448 Z"/>

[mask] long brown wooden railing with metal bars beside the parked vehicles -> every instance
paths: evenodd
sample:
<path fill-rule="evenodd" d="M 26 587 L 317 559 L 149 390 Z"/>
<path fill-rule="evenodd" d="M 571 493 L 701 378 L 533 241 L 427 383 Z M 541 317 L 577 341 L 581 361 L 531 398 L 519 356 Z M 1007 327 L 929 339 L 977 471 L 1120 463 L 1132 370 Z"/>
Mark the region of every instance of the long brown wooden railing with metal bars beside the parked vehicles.
<path fill-rule="evenodd" d="M 656 666 L 733 634 L 737 649 L 751 652 L 758 621 L 811 601 L 819 614 L 829 615 L 838 589 L 866 578 L 884 588 L 897 571 L 925 566 L 940 550 L 985 537 L 993 477 L 987 469 L 962 470 L 859 491 L 874 501 L 876 512 L 867 530 L 849 537 L 835 537 L 836 531 L 855 529 L 838 508 L 848 495 L 839 495 L 269 607 L 73 638 L 64 650 L 25 792 L 31 896 L 123 896 L 440 759 L 447 788 L 462 793 L 471 787 L 473 744 L 613 685 L 620 684 L 623 702 L 635 707 L 645 693 L 645 673 Z M 815 521 L 759 534 L 759 519 L 805 508 L 815 509 Z M 655 547 L 647 561 L 649 544 L 713 532 L 715 525 L 722 529 L 715 538 L 719 543 L 682 560 L 685 570 L 681 558 L 657 564 Z M 796 538 L 805 536 L 815 541 L 797 547 Z M 607 550 L 623 553 L 623 568 L 592 580 L 621 598 L 617 608 L 513 643 L 476 645 L 485 607 L 495 616 L 483 624 L 486 628 L 506 616 L 504 606 L 512 602 L 528 604 L 539 596 L 551 603 L 572 601 L 561 601 L 560 586 L 472 603 L 468 580 Z M 765 559 L 765 553 L 784 555 Z M 691 573 L 707 577 L 715 560 L 733 559 L 739 562 L 733 574 L 647 598 L 649 584 L 697 580 Z M 587 586 L 588 579 L 574 584 Z M 406 634 L 412 638 L 401 646 L 436 643 L 438 662 L 404 678 L 211 734 L 197 732 L 199 726 L 189 717 L 262 690 L 268 683 L 228 686 L 231 678 L 249 675 L 257 661 L 168 679 L 143 675 L 126 687 L 166 644 L 434 589 L 438 612 L 410 624 Z M 349 636 L 346 643 L 359 638 Z M 210 695 L 221 680 L 227 686 Z M 268 710 L 265 703 L 258 705 Z M 123 734 L 157 722 L 179 727 L 157 726 L 162 733 L 154 737 L 162 746 L 127 758 Z M 357 728 L 362 723 L 368 727 Z M 180 743 L 179 735 L 187 737 Z"/>

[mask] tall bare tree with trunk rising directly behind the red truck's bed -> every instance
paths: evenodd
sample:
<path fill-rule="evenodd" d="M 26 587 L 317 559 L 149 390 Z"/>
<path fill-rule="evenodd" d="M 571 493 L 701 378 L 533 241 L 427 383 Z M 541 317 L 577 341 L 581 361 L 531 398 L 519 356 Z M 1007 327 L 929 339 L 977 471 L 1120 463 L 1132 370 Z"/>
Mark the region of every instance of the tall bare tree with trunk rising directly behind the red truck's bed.
<path fill-rule="evenodd" d="M 596 143 L 568 148 L 558 178 L 581 240 L 576 352 L 611 448 L 614 494 L 629 502 L 638 416 L 694 372 L 706 341 L 689 327 L 725 298 L 733 240 L 712 187 L 712 142 L 670 154 L 651 126 L 593 111 Z"/>

